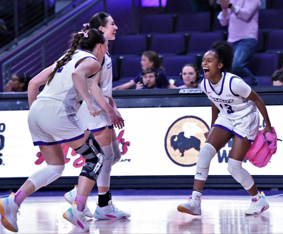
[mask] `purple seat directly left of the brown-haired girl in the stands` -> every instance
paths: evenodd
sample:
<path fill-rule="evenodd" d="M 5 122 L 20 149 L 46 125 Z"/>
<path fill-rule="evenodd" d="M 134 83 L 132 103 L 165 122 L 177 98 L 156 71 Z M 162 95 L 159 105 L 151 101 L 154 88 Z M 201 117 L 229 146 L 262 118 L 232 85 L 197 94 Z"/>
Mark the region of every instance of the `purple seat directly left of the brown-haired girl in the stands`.
<path fill-rule="evenodd" d="M 126 57 L 122 61 L 120 77 L 136 77 L 141 70 L 141 57 Z"/>

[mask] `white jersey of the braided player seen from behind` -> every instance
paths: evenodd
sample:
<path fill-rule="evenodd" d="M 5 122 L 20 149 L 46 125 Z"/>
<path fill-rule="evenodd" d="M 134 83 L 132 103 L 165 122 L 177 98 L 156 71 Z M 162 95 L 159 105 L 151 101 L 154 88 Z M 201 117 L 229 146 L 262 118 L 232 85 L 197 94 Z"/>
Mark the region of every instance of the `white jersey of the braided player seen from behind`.
<path fill-rule="evenodd" d="M 65 55 L 63 55 L 60 59 L 62 59 L 64 56 Z M 45 85 L 42 92 L 37 96 L 37 99 L 44 101 L 50 99 L 62 101 L 63 103 L 72 106 L 76 111 L 78 111 L 78 108 L 80 106 L 79 101 L 81 98 L 79 97 L 78 92 L 74 86 L 72 73 L 78 66 L 78 62 L 88 57 L 97 60 L 94 54 L 88 51 L 84 51 L 82 49 L 76 50 L 71 59 L 67 63 L 65 63 L 64 66 L 57 70 L 52 81 L 50 81 L 49 84 Z M 53 69 L 55 68 L 55 66 L 56 63 L 54 63 Z M 94 75 L 95 74 L 86 79 L 88 88 L 93 82 Z"/>

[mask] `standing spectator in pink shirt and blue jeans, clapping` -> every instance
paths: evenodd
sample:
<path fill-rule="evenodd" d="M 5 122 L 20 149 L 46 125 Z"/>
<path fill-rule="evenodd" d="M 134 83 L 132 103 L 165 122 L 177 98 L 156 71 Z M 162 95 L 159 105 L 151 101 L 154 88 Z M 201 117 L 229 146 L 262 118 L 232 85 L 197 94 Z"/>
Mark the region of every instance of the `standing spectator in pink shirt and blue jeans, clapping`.
<path fill-rule="evenodd" d="M 222 26 L 228 25 L 228 41 L 234 49 L 232 73 L 252 77 L 254 85 L 258 78 L 246 67 L 257 49 L 260 0 L 218 0 L 222 11 L 217 18 Z"/>

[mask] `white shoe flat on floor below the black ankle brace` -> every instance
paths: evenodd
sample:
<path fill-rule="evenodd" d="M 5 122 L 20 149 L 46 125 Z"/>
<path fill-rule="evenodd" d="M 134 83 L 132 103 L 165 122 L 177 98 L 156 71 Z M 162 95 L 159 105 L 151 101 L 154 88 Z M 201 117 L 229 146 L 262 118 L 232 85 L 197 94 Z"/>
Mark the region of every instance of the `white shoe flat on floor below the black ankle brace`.
<path fill-rule="evenodd" d="M 93 217 L 96 219 L 124 219 L 129 218 L 131 215 L 118 210 L 118 208 L 113 205 L 112 200 L 108 201 L 108 205 L 100 207 L 96 203 L 96 210 L 93 214 Z"/>

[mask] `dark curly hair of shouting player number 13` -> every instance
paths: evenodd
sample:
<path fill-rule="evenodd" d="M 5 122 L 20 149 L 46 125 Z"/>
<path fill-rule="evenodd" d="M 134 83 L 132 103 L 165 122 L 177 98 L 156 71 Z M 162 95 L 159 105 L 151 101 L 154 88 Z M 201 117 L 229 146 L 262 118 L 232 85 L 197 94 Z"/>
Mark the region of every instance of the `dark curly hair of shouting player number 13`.
<path fill-rule="evenodd" d="M 223 71 L 231 71 L 232 63 L 234 58 L 233 48 L 228 41 L 215 41 L 213 42 L 211 51 L 215 52 L 216 57 L 220 63 L 223 63 L 223 67 L 221 68 L 221 72 Z"/>

